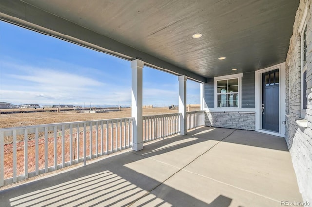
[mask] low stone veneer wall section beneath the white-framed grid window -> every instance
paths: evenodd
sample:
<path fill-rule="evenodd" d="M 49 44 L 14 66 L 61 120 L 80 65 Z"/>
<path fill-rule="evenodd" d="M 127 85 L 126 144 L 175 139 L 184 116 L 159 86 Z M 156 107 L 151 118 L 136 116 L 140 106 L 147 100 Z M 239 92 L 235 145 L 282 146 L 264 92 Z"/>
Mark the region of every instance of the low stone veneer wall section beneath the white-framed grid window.
<path fill-rule="evenodd" d="M 255 130 L 255 113 L 206 111 L 205 126 Z"/>

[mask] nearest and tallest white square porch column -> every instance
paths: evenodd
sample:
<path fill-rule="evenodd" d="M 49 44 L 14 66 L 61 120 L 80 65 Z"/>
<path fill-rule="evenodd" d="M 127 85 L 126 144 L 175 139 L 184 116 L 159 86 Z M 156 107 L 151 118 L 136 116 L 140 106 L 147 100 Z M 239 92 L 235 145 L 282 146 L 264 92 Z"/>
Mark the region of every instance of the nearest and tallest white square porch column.
<path fill-rule="evenodd" d="M 134 137 L 132 149 L 139 151 L 143 149 L 143 90 L 142 90 L 142 70 L 144 62 L 142 60 L 131 61 L 132 69 L 132 86 L 131 86 L 131 116 L 135 118 L 134 124 Z"/>

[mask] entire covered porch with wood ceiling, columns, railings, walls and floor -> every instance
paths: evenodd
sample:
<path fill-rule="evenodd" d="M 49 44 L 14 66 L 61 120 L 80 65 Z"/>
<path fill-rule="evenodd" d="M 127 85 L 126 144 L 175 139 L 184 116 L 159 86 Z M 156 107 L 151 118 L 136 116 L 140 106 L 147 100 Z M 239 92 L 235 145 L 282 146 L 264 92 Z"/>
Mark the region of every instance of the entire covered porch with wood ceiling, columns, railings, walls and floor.
<path fill-rule="evenodd" d="M 127 123 L 130 136 L 131 122 L 132 139 L 123 143 L 134 151 L 2 190 L 1 204 L 311 206 L 311 14 L 311 0 L 2 0 L 2 21 L 131 61 L 132 115 L 123 120 L 123 129 Z M 179 77 L 174 126 L 181 135 L 151 144 L 144 142 L 144 66 Z M 187 132 L 187 79 L 201 83 L 201 124 L 227 129 Z M 105 121 L 111 132 L 114 124 L 122 125 Z M 62 130 L 64 143 L 70 124 L 54 126 L 54 138 Z M 75 124 L 84 128 L 84 140 L 86 127 L 90 135 L 92 126 L 98 126 Z M 48 134 L 49 127 L 37 127 L 37 135 L 40 130 Z M 13 139 L 20 133 L 14 130 Z M 31 132 L 36 136 L 36 128 Z M 122 149 L 115 143 L 116 149 L 112 144 L 101 155 Z M 0 145 L 3 154 L 3 141 Z M 89 149 L 93 159 L 92 144 Z M 65 167 L 64 155 L 61 161 L 55 158 L 53 168 L 46 164 L 44 172 Z M 4 169 L 3 158 L 0 165 Z M 29 174 L 26 168 L 24 172 L 22 179 Z M 38 165 L 32 173 L 41 173 Z M 18 174 L 13 172 L 11 180 L 19 181 Z M 297 182 L 305 203 L 300 203 Z M 4 184 L 1 173 L 0 186 Z"/>

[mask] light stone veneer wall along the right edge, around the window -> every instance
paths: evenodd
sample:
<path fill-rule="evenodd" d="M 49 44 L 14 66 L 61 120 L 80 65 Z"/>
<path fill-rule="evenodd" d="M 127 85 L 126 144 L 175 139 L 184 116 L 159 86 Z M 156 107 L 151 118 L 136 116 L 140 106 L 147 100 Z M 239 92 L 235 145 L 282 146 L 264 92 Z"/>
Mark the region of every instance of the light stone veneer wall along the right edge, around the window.
<path fill-rule="evenodd" d="M 306 206 L 312 205 L 312 0 L 300 0 L 293 25 L 286 58 L 286 133 L 285 139 L 292 157 L 292 164 L 297 176 L 299 190 Z M 300 127 L 296 120 L 300 119 L 300 34 L 298 31 L 305 6 L 308 5 L 307 16 L 307 125 Z M 309 204 L 310 203 L 310 204 Z"/>

